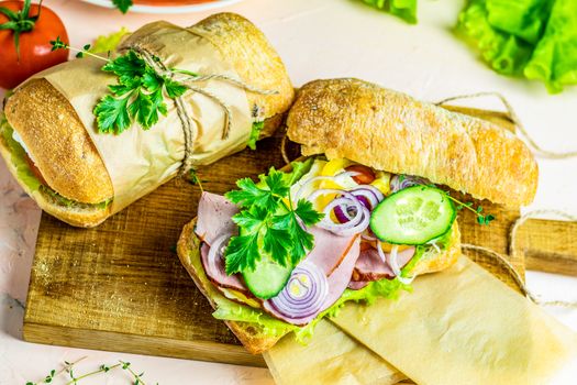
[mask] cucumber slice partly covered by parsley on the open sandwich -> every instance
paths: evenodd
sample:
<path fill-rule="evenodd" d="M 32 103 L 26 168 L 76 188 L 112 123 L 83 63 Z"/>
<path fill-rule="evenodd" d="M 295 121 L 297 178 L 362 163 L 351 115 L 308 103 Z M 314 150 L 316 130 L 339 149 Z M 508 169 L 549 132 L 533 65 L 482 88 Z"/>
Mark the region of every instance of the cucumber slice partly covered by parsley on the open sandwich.
<path fill-rule="evenodd" d="M 243 272 L 246 286 L 256 297 L 268 299 L 276 297 L 287 285 L 292 266 L 281 266 L 270 257 L 263 255 L 254 271 Z"/>

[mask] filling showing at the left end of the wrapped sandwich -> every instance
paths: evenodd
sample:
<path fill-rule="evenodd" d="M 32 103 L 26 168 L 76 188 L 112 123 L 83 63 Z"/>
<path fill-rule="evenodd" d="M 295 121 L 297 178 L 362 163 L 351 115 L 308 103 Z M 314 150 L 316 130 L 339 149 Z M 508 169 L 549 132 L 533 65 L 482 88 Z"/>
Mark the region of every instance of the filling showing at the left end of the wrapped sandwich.
<path fill-rule="evenodd" d="M 18 132 L 8 123 L 3 114 L 0 114 L 0 140 L 10 151 L 10 161 L 16 169 L 18 179 L 30 193 L 38 191 L 47 201 L 76 210 L 100 210 L 107 208 L 112 201 L 112 199 L 109 199 L 100 204 L 78 202 L 52 189 L 44 180 L 41 170 L 36 167 L 34 158 L 27 151 L 24 142 Z"/>

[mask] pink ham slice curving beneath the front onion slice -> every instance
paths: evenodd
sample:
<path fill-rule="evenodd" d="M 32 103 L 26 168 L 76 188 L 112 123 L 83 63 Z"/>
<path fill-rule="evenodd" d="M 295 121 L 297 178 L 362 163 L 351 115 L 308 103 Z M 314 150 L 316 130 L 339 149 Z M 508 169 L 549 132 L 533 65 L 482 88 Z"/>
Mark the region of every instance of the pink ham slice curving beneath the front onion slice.
<path fill-rule="evenodd" d="M 317 241 L 317 238 L 315 238 Z M 319 314 L 330 308 L 341 296 L 343 295 L 343 292 L 346 289 L 348 283 L 351 282 L 351 276 L 353 274 L 353 268 L 355 267 L 356 260 L 359 255 L 360 250 L 360 240 L 358 237 L 354 237 L 352 246 L 347 250 L 344 257 L 340 258 L 341 263 L 339 266 L 334 268 L 332 274 L 328 277 L 329 280 L 329 295 L 326 296 L 326 299 L 324 300 L 323 306 L 319 311 L 315 314 L 304 317 L 304 318 L 288 318 L 278 312 L 270 304 L 269 300 L 265 300 L 263 302 L 263 308 L 273 317 L 278 318 L 285 322 L 289 322 L 292 324 L 307 324 L 310 321 L 312 321 Z M 334 255 L 331 255 L 331 250 L 325 252 L 326 258 L 334 258 Z"/>

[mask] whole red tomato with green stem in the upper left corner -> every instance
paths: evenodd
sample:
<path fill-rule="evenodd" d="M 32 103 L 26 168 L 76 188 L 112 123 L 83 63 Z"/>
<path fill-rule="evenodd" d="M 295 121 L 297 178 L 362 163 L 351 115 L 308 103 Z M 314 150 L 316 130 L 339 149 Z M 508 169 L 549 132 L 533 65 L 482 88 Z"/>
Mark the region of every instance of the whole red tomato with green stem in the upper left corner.
<path fill-rule="evenodd" d="M 0 8 L 12 11 L 20 20 L 30 20 L 38 14 L 37 4 L 30 7 L 27 16 L 22 14 L 20 11 L 24 4 L 22 1 L 0 1 Z M 0 10 L 0 25 L 14 21 L 11 19 Z M 23 25 L 22 22 L 20 24 Z M 66 44 L 69 41 L 63 22 L 49 8 L 42 7 L 40 18 L 32 29 L 20 32 L 20 58 L 14 41 L 15 33 L 12 29 L 0 30 L 0 87 L 13 88 L 30 76 L 68 59 L 67 50 L 52 52 L 49 42 L 57 36 Z"/>

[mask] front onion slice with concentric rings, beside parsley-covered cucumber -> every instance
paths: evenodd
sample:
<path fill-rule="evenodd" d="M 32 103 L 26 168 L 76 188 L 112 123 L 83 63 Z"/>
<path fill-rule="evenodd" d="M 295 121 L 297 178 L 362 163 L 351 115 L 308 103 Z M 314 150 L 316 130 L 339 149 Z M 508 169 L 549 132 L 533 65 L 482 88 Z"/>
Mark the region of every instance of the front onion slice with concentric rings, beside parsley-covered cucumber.
<path fill-rule="evenodd" d="M 329 295 L 329 282 L 313 263 L 302 261 L 292 271 L 285 288 L 268 301 L 285 317 L 306 318 L 318 312 Z"/>

